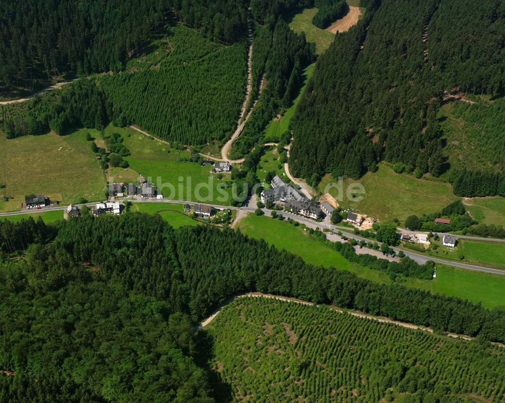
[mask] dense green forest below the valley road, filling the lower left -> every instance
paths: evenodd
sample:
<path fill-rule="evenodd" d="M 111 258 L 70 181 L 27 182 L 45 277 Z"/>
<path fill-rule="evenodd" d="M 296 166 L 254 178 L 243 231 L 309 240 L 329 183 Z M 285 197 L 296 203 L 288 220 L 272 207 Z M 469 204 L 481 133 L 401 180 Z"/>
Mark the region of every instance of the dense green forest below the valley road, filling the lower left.
<path fill-rule="evenodd" d="M 250 291 L 505 340 L 500 308 L 314 267 L 231 229 L 174 230 L 158 216 L 0 220 L 0 251 L 2 401 L 213 401 L 192 326 Z"/>

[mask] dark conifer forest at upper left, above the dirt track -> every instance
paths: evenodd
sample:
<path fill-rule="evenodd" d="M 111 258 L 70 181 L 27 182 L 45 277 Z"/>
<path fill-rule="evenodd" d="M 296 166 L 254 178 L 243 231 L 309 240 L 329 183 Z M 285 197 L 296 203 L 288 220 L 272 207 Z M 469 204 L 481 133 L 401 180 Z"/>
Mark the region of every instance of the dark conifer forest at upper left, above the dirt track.
<path fill-rule="evenodd" d="M 0 91 L 66 73 L 117 71 L 176 19 L 216 41 L 246 32 L 244 0 L 27 0 L 0 3 Z"/>

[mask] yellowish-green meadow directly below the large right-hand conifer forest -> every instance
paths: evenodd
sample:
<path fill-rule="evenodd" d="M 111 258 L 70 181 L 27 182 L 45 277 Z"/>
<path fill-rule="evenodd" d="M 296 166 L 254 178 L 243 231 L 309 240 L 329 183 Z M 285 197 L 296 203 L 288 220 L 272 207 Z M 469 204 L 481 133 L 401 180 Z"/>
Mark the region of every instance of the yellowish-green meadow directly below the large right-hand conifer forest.
<path fill-rule="evenodd" d="M 331 175 L 326 175 L 319 184 L 319 190 L 326 193 L 326 186 L 332 182 L 336 181 Z M 363 200 L 356 202 L 347 198 L 347 187 L 352 183 L 360 183 L 365 188 L 365 194 L 358 195 L 363 196 Z M 451 185 L 396 174 L 384 163 L 379 164 L 377 172 L 368 172 L 357 181 L 346 179 L 342 197 L 338 197 L 338 189 L 334 187 L 329 189 L 329 193 L 341 207 L 355 208 L 380 221 L 398 218 L 402 222 L 411 214 L 421 216 L 437 212 L 456 200 Z"/>

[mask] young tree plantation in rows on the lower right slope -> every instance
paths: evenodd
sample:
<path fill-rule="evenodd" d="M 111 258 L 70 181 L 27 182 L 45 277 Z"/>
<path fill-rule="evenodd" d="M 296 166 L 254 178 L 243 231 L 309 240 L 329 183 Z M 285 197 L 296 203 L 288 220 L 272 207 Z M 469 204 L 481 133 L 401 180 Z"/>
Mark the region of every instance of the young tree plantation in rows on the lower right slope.
<path fill-rule="evenodd" d="M 503 349 L 257 297 L 209 327 L 232 401 L 504 401 Z"/>

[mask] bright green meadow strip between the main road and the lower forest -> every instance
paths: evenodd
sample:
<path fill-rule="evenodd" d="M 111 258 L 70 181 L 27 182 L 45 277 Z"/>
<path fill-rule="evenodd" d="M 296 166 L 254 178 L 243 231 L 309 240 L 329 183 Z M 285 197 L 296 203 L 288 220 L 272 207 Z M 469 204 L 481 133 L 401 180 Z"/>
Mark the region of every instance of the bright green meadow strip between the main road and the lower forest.
<path fill-rule="evenodd" d="M 272 219 L 268 216 L 249 214 L 242 218 L 237 228 L 251 238 L 264 239 L 278 249 L 300 256 L 307 263 L 333 266 L 349 270 L 358 276 L 380 283 L 391 283 L 384 272 L 371 270 L 356 263 L 349 263 L 336 251 L 310 239 L 300 227 Z M 407 278 L 403 284 L 434 294 L 459 297 L 492 309 L 505 306 L 505 276 L 457 269 L 437 264 L 437 276 L 433 280 Z"/>

